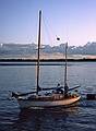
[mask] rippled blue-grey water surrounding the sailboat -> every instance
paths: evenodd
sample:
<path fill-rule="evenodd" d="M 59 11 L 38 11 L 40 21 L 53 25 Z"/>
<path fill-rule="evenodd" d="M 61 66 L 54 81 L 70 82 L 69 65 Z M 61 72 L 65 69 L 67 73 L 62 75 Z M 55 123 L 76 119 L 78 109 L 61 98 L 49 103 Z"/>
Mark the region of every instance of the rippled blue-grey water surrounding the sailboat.
<path fill-rule="evenodd" d="M 40 86 L 63 84 L 63 66 L 41 66 Z M 81 85 L 81 102 L 69 108 L 20 110 L 10 91 L 29 92 L 36 86 L 35 66 L 0 66 L 0 131 L 96 131 L 96 62 L 68 63 L 69 86 Z"/>

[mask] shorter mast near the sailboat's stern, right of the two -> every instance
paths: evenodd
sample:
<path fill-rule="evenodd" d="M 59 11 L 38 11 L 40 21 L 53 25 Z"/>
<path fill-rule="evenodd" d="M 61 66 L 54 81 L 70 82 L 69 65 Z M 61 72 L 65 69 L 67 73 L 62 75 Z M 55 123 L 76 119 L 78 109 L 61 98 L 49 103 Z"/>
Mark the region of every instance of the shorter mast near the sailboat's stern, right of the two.
<path fill-rule="evenodd" d="M 65 69 L 64 69 L 64 96 L 68 96 L 68 83 L 67 83 L 67 62 L 68 62 L 68 58 L 67 58 L 67 49 L 68 49 L 68 43 L 65 44 Z"/>

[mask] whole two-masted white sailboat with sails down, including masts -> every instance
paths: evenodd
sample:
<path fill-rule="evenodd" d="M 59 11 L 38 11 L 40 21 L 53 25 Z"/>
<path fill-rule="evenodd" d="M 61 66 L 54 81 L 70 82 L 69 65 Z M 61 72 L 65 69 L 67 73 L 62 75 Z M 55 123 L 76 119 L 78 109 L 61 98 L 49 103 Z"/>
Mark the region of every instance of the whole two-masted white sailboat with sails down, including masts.
<path fill-rule="evenodd" d="M 71 90 L 77 88 L 79 86 L 69 88 L 67 83 L 67 50 L 68 43 L 65 44 L 65 71 L 64 71 L 64 86 L 58 84 L 57 87 L 43 88 L 39 87 L 39 50 L 40 50 L 40 26 L 41 26 L 41 11 L 39 11 L 39 27 L 38 27 L 38 56 L 37 56 L 37 86 L 36 92 L 29 93 L 14 93 L 12 92 L 12 97 L 15 97 L 20 108 L 35 108 L 35 107 L 57 107 L 57 106 L 68 106 L 77 102 L 81 96 L 79 94 L 69 93 Z M 47 91 L 51 92 L 47 92 Z M 46 91 L 46 92 L 45 92 Z"/>

